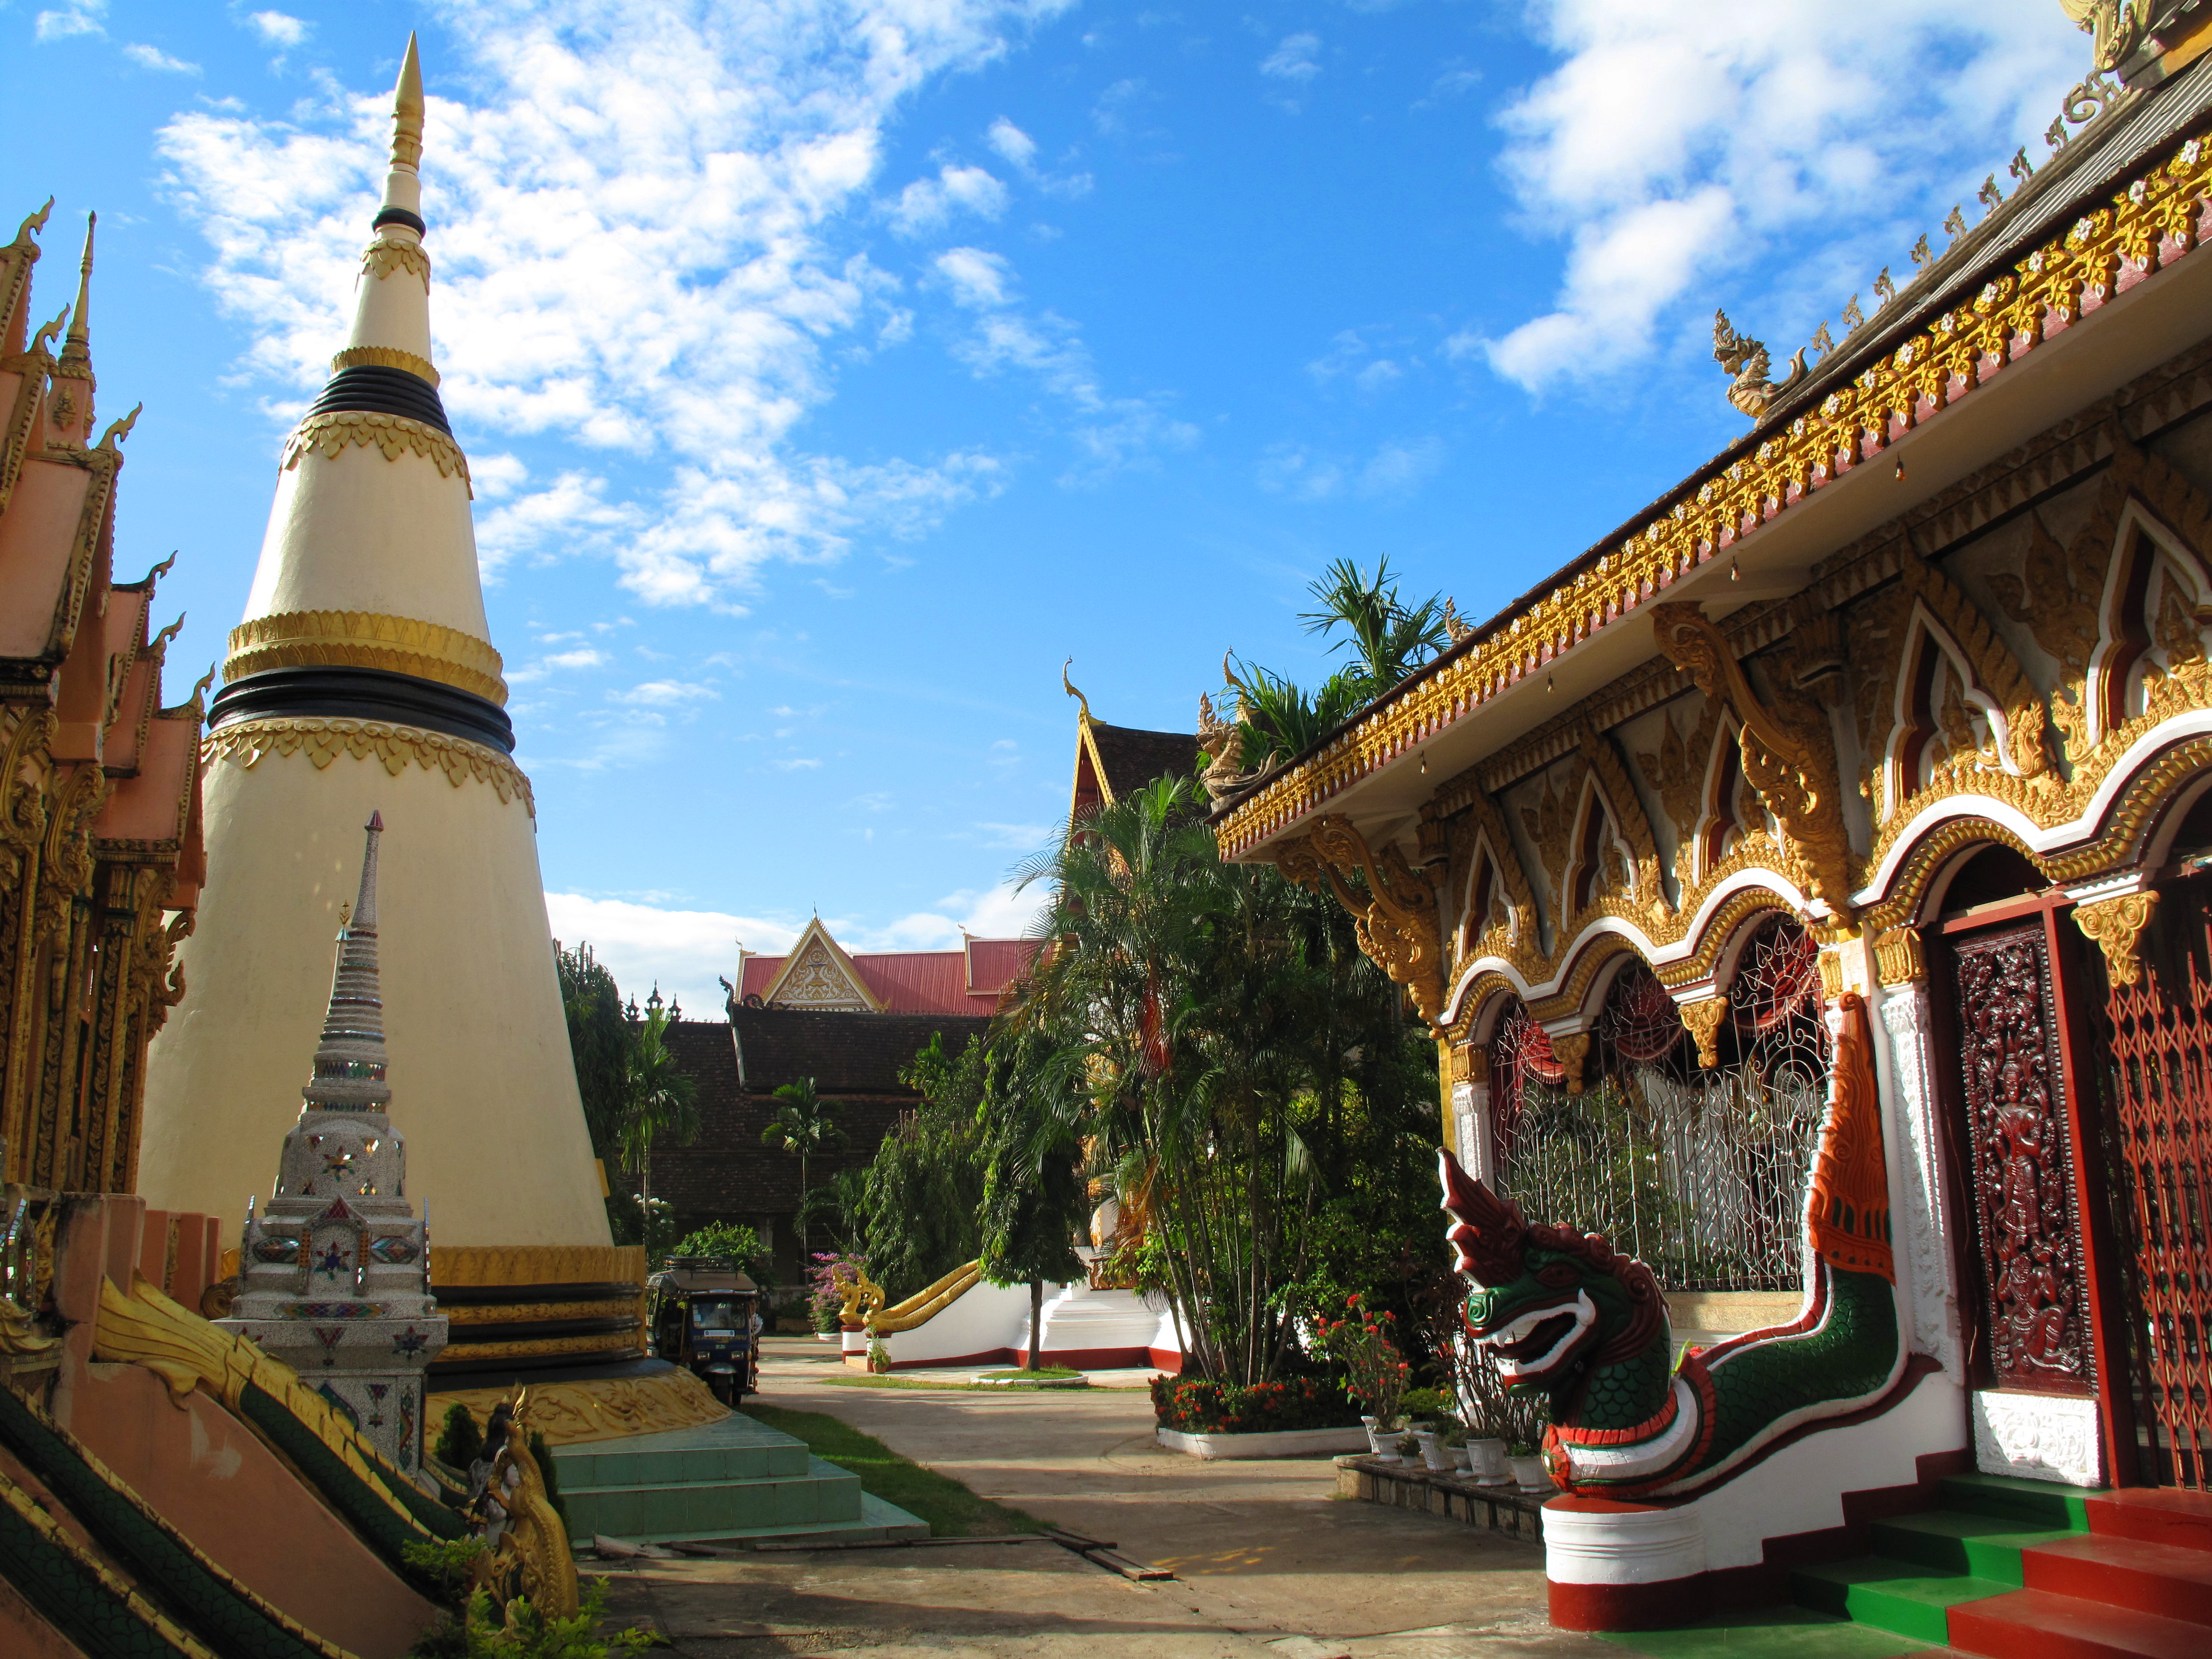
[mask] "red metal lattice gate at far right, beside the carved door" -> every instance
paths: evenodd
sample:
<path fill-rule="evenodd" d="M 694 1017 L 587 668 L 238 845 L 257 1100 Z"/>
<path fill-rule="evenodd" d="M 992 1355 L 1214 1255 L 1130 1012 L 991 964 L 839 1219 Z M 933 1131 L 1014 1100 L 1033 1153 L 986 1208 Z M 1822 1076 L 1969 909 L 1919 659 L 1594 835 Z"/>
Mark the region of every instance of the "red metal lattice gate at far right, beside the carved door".
<path fill-rule="evenodd" d="M 2212 925 L 2203 883 L 2163 894 L 2137 984 L 2106 1002 L 2106 1150 L 2128 1292 L 2141 1478 L 2212 1489 Z M 2194 945 L 2203 945 L 2203 956 Z M 2172 989 L 2168 989 L 2172 987 Z"/>

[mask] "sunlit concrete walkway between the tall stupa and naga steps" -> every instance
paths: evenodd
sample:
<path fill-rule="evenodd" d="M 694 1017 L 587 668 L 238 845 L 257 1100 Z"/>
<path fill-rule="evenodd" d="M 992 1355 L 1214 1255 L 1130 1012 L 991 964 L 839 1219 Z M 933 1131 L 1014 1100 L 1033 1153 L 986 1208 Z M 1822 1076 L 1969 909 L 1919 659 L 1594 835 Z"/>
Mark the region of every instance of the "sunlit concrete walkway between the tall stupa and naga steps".
<path fill-rule="evenodd" d="M 827 1411 L 1177 1577 L 1130 1584 L 1053 1544 L 794 1551 L 626 1568 L 617 1613 L 650 1613 L 686 1659 L 1102 1659 L 1102 1641 L 1130 1659 L 1619 1659 L 1546 1624 L 1535 1546 L 1338 1500 L 1327 1460 L 1161 1451 L 1141 1389 L 854 1389 L 843 1374 L 827 1345 L 772 1338 L 761 1400 Z"/>

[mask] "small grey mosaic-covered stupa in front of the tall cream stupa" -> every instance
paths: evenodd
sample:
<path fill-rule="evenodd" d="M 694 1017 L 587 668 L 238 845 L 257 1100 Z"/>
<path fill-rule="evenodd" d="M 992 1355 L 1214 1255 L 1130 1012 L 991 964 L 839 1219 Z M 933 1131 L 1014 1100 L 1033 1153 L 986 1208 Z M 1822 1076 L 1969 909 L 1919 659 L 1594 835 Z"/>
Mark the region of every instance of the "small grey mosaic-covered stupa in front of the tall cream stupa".
<path fill-rule="evenodd" d="M 422 1464 L 422 1367 L 447 1323 L 429 1294 L 429 1221 L 407 1203 L 407 1146 L 392 1128 L 385 1004 L 376 982 L 376 841 L 338 929 L 338 973 L 307 1104 L 283 1137 L 276 1197 L 248 1203 L 237 1303 L 223 1329 L 252 1338 L 354 1420 L 389 1462 Z"/>

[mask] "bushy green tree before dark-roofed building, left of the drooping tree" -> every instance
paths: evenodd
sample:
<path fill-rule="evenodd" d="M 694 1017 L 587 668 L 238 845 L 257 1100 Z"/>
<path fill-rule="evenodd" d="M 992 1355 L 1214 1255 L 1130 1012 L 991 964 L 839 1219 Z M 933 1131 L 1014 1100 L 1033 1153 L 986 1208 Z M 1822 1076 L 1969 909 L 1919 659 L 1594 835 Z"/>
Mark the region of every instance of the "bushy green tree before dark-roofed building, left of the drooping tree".
<path fill-rule="evenodd" d="M 867 1166 L 856 1206 L 867 1261 L 894 1301 L 936 1283 L 982 1254 L 982 1108 L 987 1073 L 982 1037 L 958 1055 L 945 1033 L 914 1055 L 898 1077 L 920 1091 L 920 1104 L 883 1137 Z"/>

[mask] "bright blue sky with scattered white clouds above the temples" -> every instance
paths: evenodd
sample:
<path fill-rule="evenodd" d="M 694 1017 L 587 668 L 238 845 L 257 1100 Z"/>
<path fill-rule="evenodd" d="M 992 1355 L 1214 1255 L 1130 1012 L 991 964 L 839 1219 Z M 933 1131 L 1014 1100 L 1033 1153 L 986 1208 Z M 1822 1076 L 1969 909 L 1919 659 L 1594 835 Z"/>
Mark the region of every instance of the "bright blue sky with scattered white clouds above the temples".
<path fill-rule="evenodd" d="M 35 305 L 100 210 L 117 564 L 237 622 L 422 33 L 445 398 L 555 933 L 1013 931 L 1073 706 L 1190 730 L 1387 553 L 1471 617 L 1714 453 L 2086 69 L 2055 0 L 0 4 Z M 164 615 L 166 619 L 166 615 Z"/>

